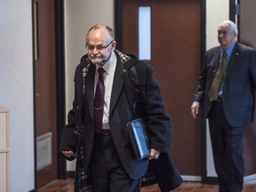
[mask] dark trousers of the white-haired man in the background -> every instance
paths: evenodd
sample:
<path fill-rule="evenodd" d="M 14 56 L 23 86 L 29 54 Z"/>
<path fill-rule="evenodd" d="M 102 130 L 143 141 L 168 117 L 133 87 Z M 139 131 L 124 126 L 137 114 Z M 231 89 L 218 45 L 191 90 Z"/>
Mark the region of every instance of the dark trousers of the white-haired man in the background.
<path fill-rule="evenodd" d="M 241 192 L 244 183 L 243 138 L 245 127 L 228 124 L 222 102 L 213 102 L 210 135 L 220 192 Z"/>

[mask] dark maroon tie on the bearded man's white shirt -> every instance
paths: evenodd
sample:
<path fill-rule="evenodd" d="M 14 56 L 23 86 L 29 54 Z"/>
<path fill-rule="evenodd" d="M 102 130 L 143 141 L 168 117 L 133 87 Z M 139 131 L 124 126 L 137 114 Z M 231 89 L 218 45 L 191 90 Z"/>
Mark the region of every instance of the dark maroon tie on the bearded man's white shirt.
<path fill-rule="evenodd" d="M 99 79 L 96 86 L 95 98 L 94 98 L 94 128 L 96 132 L 100 132 L 102 129 L 102 118 L 103 118 L 103 109 L 104 109 L 104 95 L 105 95 L 105 86 L 104 86 L 104 68 L 98 68 Z"/>

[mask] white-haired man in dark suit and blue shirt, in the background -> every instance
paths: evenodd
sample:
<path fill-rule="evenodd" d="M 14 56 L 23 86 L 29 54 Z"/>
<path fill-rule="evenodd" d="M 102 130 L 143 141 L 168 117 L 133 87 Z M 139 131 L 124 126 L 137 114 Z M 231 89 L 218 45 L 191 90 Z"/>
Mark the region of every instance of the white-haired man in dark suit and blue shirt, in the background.
<path fill-rule="evenodd" d="M 243 136 L 252 122 L 256 52 L 236 42 L 236 24 L 223 21 L 220 46 L 208 50 L 191 106 L 193 118 L 202 106 L 209 118 L 212 153 L 221 192 L 241 192 L 244 180 Z"/>

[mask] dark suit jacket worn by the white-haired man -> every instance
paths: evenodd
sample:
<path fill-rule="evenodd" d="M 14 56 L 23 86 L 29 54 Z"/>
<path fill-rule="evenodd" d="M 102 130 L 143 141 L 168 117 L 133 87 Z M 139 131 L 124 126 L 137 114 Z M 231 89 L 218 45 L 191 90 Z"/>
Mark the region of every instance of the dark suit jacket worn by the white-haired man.
<path fill-rule="evenodd" d="M 212 104 L 208 92 L 214 73 L 219 66 L 220 46 L 207 51 L 199 77 L 195 101 L 203 105 L 203 120 L 209 115 Z M 229 58 L 223 86 L 223 108 L 231 126 L 244 126 L 252 122 L 256 85 L 256 52 L 236 43 Z"/>

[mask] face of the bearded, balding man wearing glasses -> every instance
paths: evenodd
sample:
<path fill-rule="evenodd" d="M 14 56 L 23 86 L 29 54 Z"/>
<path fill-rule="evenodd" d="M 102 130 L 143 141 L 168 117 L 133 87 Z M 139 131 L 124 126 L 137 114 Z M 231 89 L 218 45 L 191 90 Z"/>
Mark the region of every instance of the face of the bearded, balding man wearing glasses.
<path fill-rule="evenodd" d="M 115 50 L 116 42 L 109 36 L 106 28 L 97 28 L 89 32 L 86 47 L 92 63 L 103 66 Z"/>

